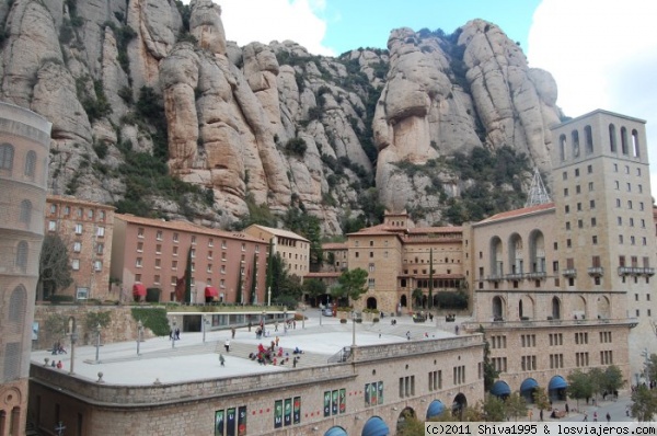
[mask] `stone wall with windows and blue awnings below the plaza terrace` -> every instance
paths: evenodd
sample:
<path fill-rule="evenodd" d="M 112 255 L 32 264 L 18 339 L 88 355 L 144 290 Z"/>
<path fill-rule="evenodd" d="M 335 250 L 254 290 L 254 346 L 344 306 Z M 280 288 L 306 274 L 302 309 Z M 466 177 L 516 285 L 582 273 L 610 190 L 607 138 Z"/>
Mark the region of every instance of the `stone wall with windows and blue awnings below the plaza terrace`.
<path fill-rule="evenodd" d="M 62 421 L 84 435 L 356 435 L 370 420 L 394 433 L 404 413 L 424 420 L 435 401 L 458 410 L 482 400 L 482 356 L 475 334 L 358 346 L 348 362 L 304 369 L 141 386 L 33 365 L 30 406 L 38 428 Z"/>

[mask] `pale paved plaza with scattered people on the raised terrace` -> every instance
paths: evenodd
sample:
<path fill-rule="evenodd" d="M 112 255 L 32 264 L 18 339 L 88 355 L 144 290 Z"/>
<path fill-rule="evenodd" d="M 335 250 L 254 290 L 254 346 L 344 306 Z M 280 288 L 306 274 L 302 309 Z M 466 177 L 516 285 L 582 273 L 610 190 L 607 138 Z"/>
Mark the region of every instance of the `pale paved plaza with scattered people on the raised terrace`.
<path fill-rule="evenodd" d="M 309 311 L 310 312 L 310 311 Z M 122 342 L 103 344 L 99 347 L 96 362 L 96 347 L 93 345 L 76 346 L 74 375 L 80 378 L 99 380 L 99 372 L 103 374 L 102 380 L 114 385 L 151 385 L 153 382 L 174 383 L 180 381 L 211 379 L 217 377 L 231 377 L 249 374 L 286 371 L 292 369 L 292 349 L 299 347 L 303 351 L 298 368 L 325 365 L 343 347 L 353 343 L 353 324 L 341 324 L 336 318 L 322 317 L 320 325 L 319 313 L 308 313 L 304 323 L 297 321 L 296 329 L 284 331 L 283 323 L 267 324 L 268 337 L 255 337 L 255 329 L 249 332 L 247 328 L 237 330 L 235 339 L 231 340 L 231 352 L 226 353 L 223 345 L 230 339 L 230 330 L 208 331 L 203 333 L 181 333 L 181 340 L 175 344 L 169 337 L 149 339 L 139 344 L 140 355 L 137 355 L 137 342 Z M 364 321 L 356 324 L 357 345 L 380 345 L 407 341 L 423 341 L 426 337 L 449 337 L 454 335 L 454 323 L 443 320 L 434 322 L 414 323 L 410 317 L 395 318 L 396 325 L 391 325 L 391 318 L 385 317 L 379 323 Z M 460 320 L 457 320 L 460 321 Z M 465 319 L 463 320 L 465 321 Z M 303 325 L 304 324 L 304 325 Z M 257 345 L 267 346 L 279 337 L 279 346 L 288 353 L 289 359 L 285 365 L 260 365 L 249 359 L 250 353 L 257 351 Z M 49 351 L 32 353 L 32 362 L 44 365 L 48 358 L 61 360 L 61 371 L 71 368 L 70 344 L 65 343 L 68 354 L 51 355 Z M 219 364 L 219 353 L 226 359 L 226 366 Z M 277 360 L 280 362 L 280 358 Z"/>

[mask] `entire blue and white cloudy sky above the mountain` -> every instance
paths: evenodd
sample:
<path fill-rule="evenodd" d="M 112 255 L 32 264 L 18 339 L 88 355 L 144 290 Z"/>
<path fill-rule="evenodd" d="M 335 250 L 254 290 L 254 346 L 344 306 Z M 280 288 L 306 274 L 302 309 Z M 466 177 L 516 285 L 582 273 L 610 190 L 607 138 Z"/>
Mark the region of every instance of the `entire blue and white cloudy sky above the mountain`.
<path fill-rule="evenodd" d="M 556 104 L 576 117 L 596 108 L 645 119 L 657 196 L 655 0 L 215 0 L 229 41 L 291 39 L 314 55 L 385 48 L 390 31 L 442 28 L 473 19 L 520 43 L 529 66 L 556 80 Z"/>

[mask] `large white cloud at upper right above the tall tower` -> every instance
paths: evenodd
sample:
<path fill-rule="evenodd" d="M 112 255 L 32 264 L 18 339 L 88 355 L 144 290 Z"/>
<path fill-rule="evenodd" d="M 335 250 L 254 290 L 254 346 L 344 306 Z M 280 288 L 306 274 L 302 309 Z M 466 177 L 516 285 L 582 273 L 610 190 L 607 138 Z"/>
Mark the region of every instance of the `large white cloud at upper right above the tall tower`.
<path fill-rule="evenodd" d="M 657 168 L 657 33 L 654 0 L 543 0 L 528 38 L 531 67 L 550 71 L 566 115 L 596 108 L 647 121 Z M 653 171 L 653 194 L 657 173 Z"/>

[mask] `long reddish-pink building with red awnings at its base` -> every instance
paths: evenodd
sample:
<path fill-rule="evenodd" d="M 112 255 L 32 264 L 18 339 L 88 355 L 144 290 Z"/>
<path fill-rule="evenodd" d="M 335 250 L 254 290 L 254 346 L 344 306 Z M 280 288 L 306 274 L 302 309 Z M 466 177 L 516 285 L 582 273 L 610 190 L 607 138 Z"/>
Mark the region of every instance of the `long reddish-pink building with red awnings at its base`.
<path fill-rule="evenodd" d="M 264 302 L 267 242 L 183 221 L 115 215 L 111 275 L 122 284 L 123 300 L 157 288 L 160 301 L 181 301 L 176 283 L 185 277 L 188 260 L 192 302 L 206 297 Z"/>

